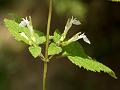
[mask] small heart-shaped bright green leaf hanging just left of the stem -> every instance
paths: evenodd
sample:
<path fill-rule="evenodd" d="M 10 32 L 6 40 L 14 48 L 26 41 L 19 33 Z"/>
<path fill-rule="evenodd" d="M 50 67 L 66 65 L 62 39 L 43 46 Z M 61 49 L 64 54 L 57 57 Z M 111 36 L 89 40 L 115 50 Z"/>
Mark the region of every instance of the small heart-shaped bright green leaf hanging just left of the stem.
<path fill-rule="evenodd" d="M 41 47 L 39 46 L 30 46 L 29 51 L 34 58 L 38 57 L 41 54 Z"/>

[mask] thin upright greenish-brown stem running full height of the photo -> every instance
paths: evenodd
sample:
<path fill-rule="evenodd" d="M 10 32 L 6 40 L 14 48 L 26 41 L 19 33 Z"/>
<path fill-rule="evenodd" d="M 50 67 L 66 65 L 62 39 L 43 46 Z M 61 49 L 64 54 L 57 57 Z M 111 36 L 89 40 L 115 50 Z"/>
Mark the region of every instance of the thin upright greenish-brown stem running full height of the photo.
<path fill-rule="evenodd" d="M 47 22 L 46 47 L 45 47 L 45 61 L 44 61 L 44 71 L 43 71 L 43 90 L 46 90 L 47 62 L 49 61 L 48 47 L 49 47 L 51 15 L 52 15 L 52 0 L 50 0 L 49 2 L 49 14 L 48 14 L 48 22 Z"/>

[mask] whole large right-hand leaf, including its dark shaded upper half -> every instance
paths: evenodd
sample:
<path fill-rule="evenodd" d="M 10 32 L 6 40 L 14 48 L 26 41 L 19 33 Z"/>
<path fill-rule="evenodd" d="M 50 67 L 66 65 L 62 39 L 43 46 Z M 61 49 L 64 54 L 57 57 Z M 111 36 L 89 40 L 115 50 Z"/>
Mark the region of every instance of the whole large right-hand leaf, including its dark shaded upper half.
<path fill-rule="evenodd" d="M 63 51 L 63 55 L 67 55 L 68 59 L 80 68 L 83 67 L 84 69 L 93 72 L 103 71 L 105 73 L 108 73 L 112 77 L 117 78 L 115 76 L 115 73 L 109 67 L 87 56 L 82 46 L 78 42 L 74 42 L 63 47 Z"/>

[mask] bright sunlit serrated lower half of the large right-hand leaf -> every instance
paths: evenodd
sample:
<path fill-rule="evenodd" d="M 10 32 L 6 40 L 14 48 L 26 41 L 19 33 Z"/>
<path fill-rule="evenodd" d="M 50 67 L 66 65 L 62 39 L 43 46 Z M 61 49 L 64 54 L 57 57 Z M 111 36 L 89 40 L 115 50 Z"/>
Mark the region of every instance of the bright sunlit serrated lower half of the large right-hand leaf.
<path fill-rule="evenodd" d="M 93 72 L 103 71 L 105 73 L 108 73 L 112 77 L 117 78 L 115 76 L 115 73 L 109 67 L 103 65 L 100 62 L 92 60 L 90 58 L 82 58 L 79 56 L 68 56 L 68 59 L 75 65 L 78 65 L 80 68 L 83 67 L 84 69 L 87 69 Z"/>

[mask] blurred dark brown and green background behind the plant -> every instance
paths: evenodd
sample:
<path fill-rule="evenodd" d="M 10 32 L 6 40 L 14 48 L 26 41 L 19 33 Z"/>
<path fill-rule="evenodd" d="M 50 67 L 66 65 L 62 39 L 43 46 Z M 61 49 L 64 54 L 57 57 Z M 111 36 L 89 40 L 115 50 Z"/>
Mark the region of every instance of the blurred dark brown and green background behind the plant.
<path fill-rule="evenodd" d="M 3 24 L 8 13 L 32 16 L 34 28 L 46 32 L 48 0 L 0 0 L 0 90 L 42 90 L 43 65 L 15 41 Z M 113 69 L 118 79 L 79 69 L 67 59 L 48 65 L 47 90 L 120 90 L 120 3 L 107 0 L 54 0 L 51 33 L 61 32 L 69 17 L 80 26 L 69 32 L 85 32 L 91 45 L 80 40 L 86 53 Z"/>

